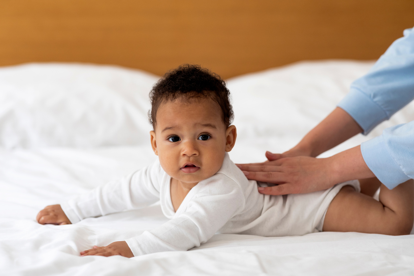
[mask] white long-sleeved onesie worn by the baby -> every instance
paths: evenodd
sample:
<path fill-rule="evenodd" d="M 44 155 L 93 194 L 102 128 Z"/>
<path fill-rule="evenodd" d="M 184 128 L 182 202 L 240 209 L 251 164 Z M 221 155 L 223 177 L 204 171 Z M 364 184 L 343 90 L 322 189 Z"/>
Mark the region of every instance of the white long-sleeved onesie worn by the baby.
<path fill-rule="evenodd" d="M 359 182 L 354 180 L 309 194 L 263 195 L 258 192 L 258 183 L 247 180 L 227 153 L 220 170 L 195 185 L 176 212 L 171 203 L 170 181 L 171 177 L 156 161 L 61 206 L 69 220 L 76 223 L 160 200 L 162 212 L 171 220 L 126 240 L 134 256 L 139 256 L 188 250 L 200 246 L 215 233 L 291 236 L 318 232 L 339 190 L 351 185 L 359 191 Z"/>

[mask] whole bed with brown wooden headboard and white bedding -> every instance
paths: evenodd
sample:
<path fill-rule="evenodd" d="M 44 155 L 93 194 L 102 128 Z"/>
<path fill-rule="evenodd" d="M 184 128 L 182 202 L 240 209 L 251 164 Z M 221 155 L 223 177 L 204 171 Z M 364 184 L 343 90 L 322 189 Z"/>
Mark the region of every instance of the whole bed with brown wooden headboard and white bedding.
<path fill-rule="evenodd" d="M 148 93 L 182 63 L 226 79 L 233 161 L 294 146 L 412 27 L 385 0 L 0 1 L 0 275 L 414 275 L 414 232 L 216 234 L 186 252 L 79 257 L 166 221 L 159 204 L 74 225 L 39 210 L 146 166 Z M 110 65 L 108 65 L 110 64 Z M 368 136 L 414 120 L 414 104 Z"/>

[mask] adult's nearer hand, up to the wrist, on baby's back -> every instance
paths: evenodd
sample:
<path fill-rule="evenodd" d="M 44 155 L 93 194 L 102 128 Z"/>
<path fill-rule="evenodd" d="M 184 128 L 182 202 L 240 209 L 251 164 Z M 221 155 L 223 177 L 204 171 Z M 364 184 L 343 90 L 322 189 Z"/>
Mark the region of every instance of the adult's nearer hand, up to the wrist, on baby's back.
<path fill-rule="evenodd" d="M 237 166 L 248 179 L 277 184 L 273 187 L 259 187 L 262 194 L 301 194 L 324 190 L 336 184 L 327 158 L 283 155 L 267 153 L 267 158 L 274 157 L 274 160 Z"/>

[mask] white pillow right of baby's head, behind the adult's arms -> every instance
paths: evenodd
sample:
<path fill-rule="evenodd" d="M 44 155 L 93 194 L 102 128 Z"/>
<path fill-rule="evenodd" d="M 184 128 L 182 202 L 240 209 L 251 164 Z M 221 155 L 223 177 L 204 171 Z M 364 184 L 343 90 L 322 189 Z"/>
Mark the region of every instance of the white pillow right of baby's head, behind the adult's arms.
<path fill-rule="evenodd" d="M 366 74 L 373 64 L 352 60 L 306 61 L 229 79 L 227 86 L 233 98 L 238 133 L 232 158 L 239 162 L 262 161 L 265 150 L 281 153 L 290 149 L 336 107 L 348 93 L 351 82 Z M 380 135 L 386 127 L 411 120 L 414 101 L 368 136 L 357 135 L 323 156 L 359 145 Z M 246 153 L 250 146 L 256 149 Z M 245 160 L 245 156 L 250 160 Z"/>

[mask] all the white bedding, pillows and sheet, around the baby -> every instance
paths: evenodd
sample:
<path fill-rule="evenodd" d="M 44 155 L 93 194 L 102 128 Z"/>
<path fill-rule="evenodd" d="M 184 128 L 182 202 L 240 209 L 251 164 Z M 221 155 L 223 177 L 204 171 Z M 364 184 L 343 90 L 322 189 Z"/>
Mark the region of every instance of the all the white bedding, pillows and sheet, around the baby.
<path fill-rule="evenodd" d="M 299 62 L 227 80 L 238 130 L 234 162 L 290 149 L 373 62 Z M 321 232 L 291 237 L 216 234 L 186 252 L 80 257 L 167 221 L 158 203 L 73 225 L 36 214 L 155 160 L 148 93 L 159 77 L 84 64 L 0 68 L 0 275 L 414 275 L 414 235 Z M 409 104 L 330 156 L 414 120 Z"/>

